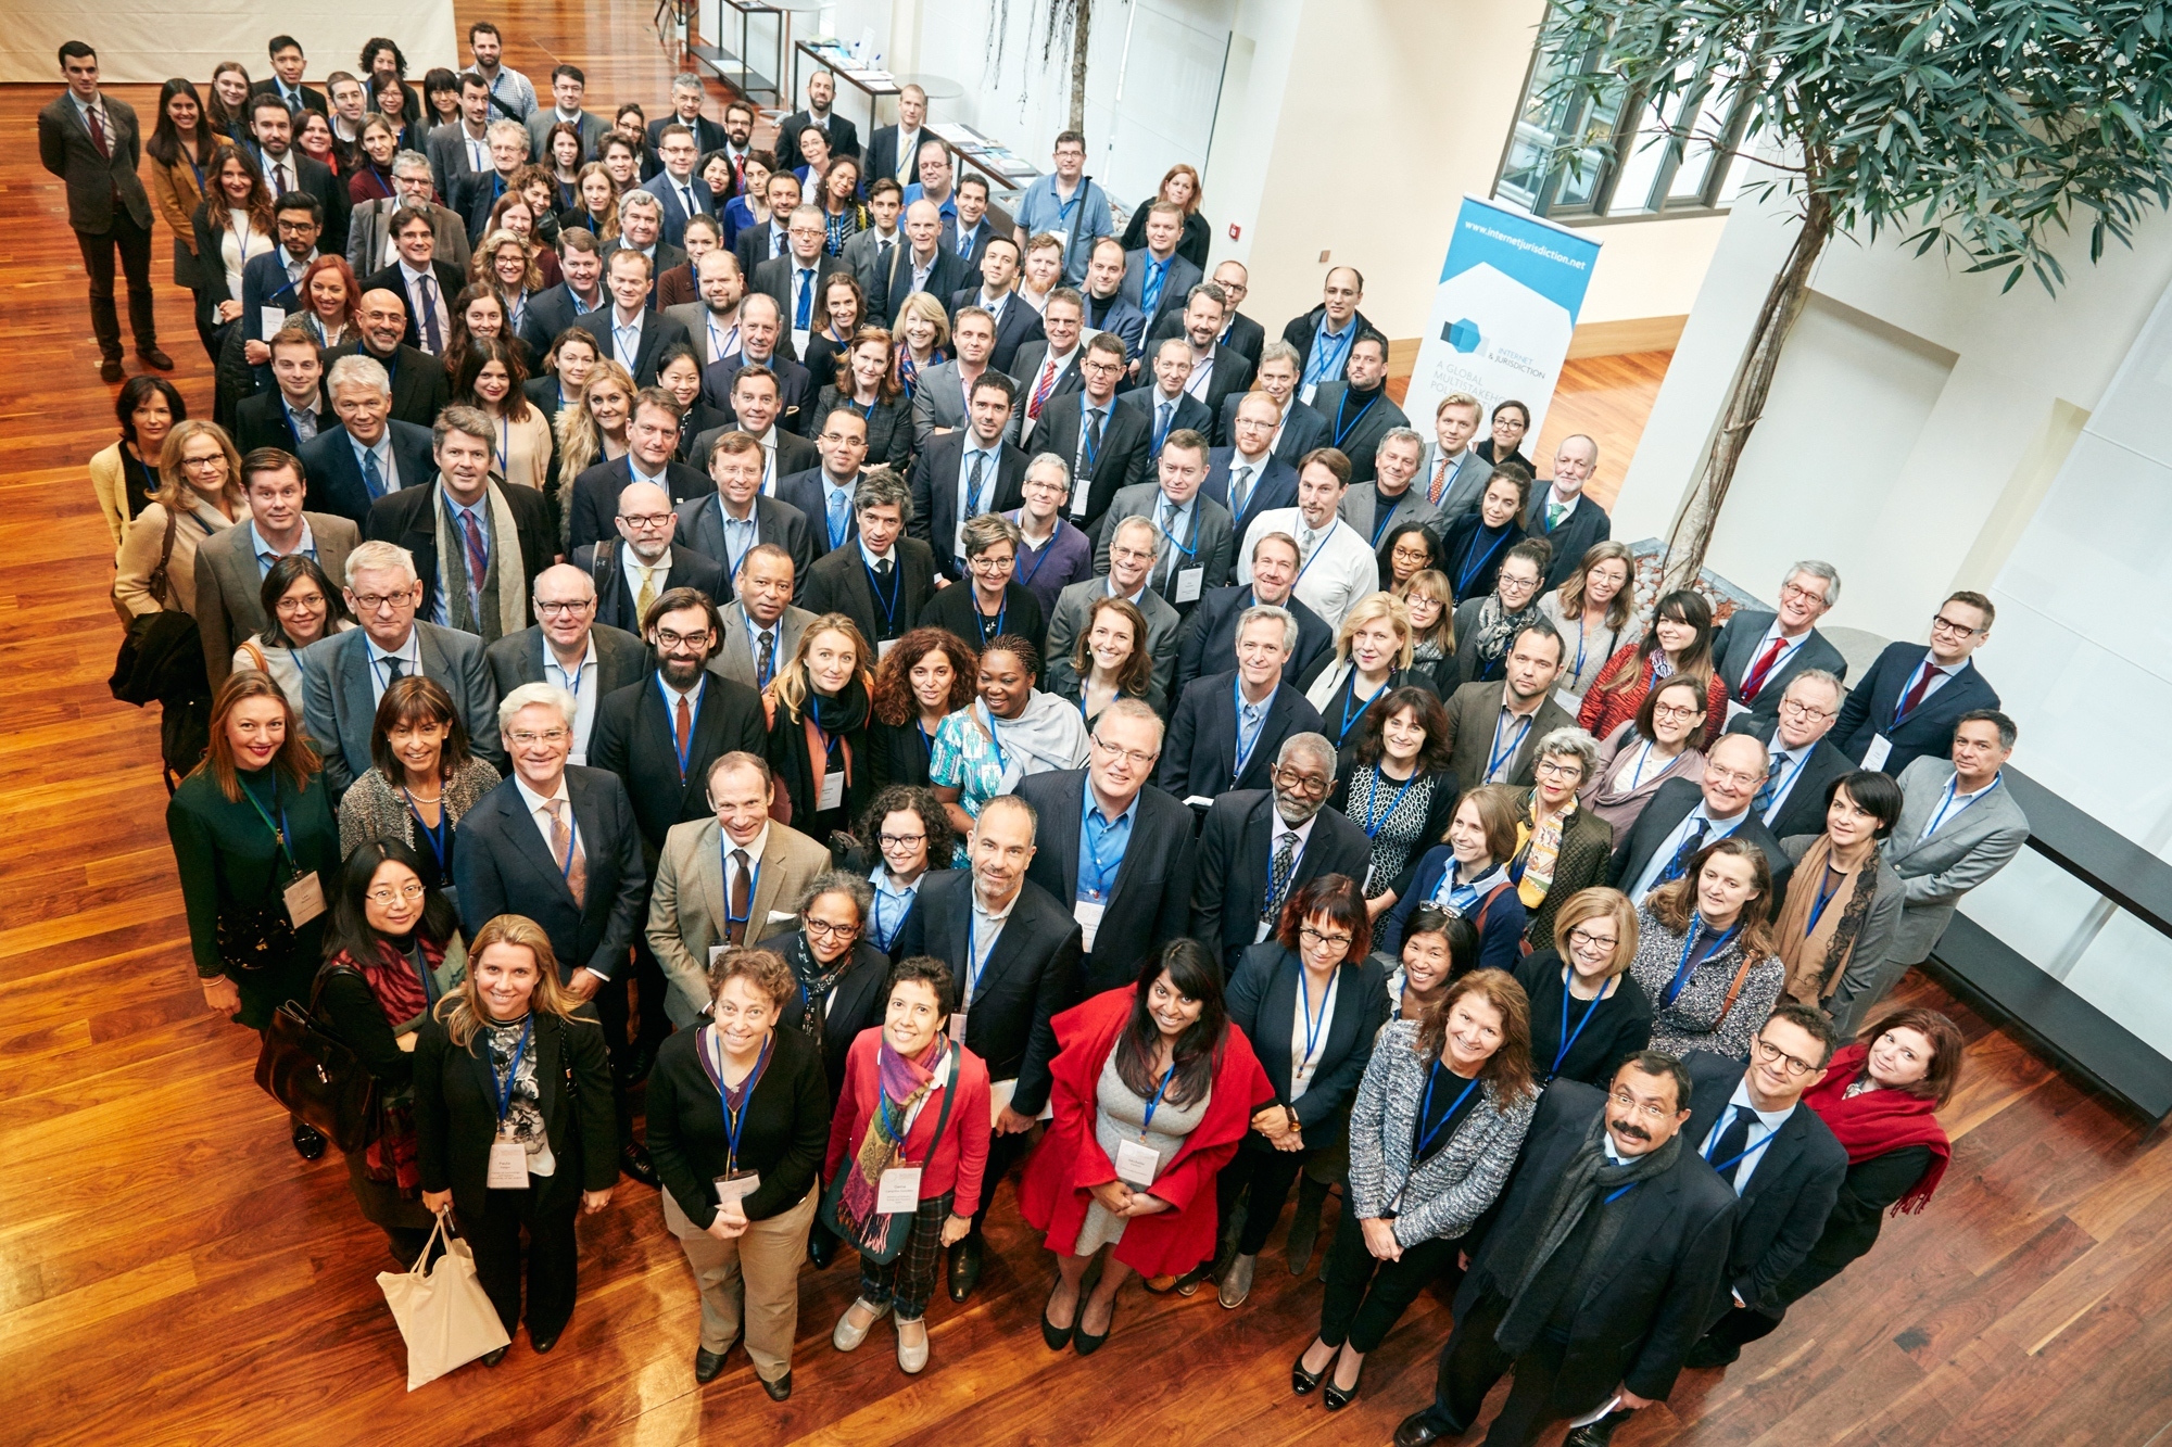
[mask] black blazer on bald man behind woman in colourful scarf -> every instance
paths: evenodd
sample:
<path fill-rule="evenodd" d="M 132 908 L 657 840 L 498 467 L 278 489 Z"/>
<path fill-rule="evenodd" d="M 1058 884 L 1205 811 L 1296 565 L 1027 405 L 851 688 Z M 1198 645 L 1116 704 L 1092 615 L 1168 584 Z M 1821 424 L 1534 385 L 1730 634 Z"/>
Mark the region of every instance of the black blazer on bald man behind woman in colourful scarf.
<path fill-rule="evenodd" d="M 932 954 L 951 967 L 964 997 L 967 923 L 973 915 L 973 871 L 932 869 L 919 906 L 899 930 L 904 958 Z M 988 965 L 967 1012 L 964 1045 L 988 1062 L 988 1080 L 1016 1080 L 1010 1108 L 1040 1115 L 1049 1102 L 1058 1010 L 1079 1002 L 1079 926 L 1045 889 L 1025 880 L 1010 919 L 988 949 Z"/>

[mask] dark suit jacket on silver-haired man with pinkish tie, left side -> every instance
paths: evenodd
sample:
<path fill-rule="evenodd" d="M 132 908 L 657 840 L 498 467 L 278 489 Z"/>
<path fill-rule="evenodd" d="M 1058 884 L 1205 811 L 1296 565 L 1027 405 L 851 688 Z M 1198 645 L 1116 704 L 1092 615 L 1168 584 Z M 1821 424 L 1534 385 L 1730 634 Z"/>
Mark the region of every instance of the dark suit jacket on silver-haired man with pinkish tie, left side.
<path fill-rule="evenodd" d="M 595 756 L 591 739 L 591 758 Z M 558 978 L 591 969 L 610 980 L 643 926 L 649 876 L 641 867 L 641 830 L 626 784 L 608 769 L 567 765 L 573 823 L 589 865 L 584 902 L 550 856 L 528 815 L 519 780 L 506 778 L 460 817 L 460 850 L 452 878 L 460 891 L 460 928 L 473 939 L 497 915 L 526 915 L 550 934 Z M 608 1104 L 608 1102 L 606 1102 Z"/>

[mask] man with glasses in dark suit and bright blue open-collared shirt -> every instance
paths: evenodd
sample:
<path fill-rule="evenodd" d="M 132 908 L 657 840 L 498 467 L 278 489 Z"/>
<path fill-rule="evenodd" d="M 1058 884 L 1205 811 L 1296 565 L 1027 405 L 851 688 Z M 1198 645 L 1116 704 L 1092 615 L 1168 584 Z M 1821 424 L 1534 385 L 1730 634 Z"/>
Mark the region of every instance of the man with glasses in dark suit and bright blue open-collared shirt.
<path fill-rule="evenodd" d="M 1027 878 L 1051 899 L 1071 899 L 1082 930 L 1090 923 L 1082 995 L 1129 984 L 1149 954 L 1190 928 L 1197 865 L 1192 815 L 1147 787 L 1162 750 L 1153 710 L 1116 700 L 1088 743 L 1086 769 L 1030 773 L 1016 789 L 1040 813 Z"/>

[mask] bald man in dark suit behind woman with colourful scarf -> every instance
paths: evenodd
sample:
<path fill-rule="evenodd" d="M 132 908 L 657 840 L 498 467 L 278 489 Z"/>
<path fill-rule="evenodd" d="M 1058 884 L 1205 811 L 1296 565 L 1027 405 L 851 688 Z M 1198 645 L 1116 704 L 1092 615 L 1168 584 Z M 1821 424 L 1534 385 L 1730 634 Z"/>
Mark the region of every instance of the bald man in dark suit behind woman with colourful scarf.
<path fill-rule="evenodd" d="M 1049 1060 L 1056 1058 L 1049 1019 L 1079 999 L 1079 923 L 1027 878 L 1038 854 L 1036 826 L 1034 806 L 1019 795 L 988 800 L 967 839 L 973 867 L 930 871 L 919 908 L 906 915 L 899 932 L 904 958 L 932 954 L 951 967 L 958 982 L 951 1039 L 988 1062 L 997 1099 L 980 1210 L 973 1230 L 949 1247 L 951 1301 L 973 1295 L 988 1199 L 1025 1156 L 1034 1117 L 1049 1102 Z"/>

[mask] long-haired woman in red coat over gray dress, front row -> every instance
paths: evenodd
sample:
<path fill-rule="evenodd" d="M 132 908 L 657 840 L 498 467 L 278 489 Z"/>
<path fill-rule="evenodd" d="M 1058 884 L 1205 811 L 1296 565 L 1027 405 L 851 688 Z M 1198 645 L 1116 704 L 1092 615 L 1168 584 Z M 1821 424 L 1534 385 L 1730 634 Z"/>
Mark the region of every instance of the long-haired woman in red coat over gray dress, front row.
<path fill-rule="evenodd" d="M 1073 1343 L 1090 1356 L 1125 1278 L 1173 1275 L 1214 1254 L 1214 1178 L 1275 1089 L 1229 1026 L 1221 967 L 1192 939 L 1169 941 L 1134 984 L 1053 1026 L 1056 1119 L 1025 1167 L 1019 1210 L 1056 1251 L 1040 1336 L 1051 1351 Z M 1101 1247 L 1108 1264 L 1082 1299 Z"/>

